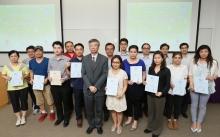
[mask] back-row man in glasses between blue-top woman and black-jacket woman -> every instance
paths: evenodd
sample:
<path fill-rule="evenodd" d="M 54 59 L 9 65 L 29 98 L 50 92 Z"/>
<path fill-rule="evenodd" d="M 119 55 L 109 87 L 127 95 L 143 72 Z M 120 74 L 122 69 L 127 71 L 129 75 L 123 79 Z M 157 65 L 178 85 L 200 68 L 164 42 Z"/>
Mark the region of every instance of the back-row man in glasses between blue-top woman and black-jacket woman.
<path fill-rule="evenodd" d="M 144 64 L 146 66 L 146 75 L 148 74 L 149 67 L 151 66 L 152 60 L 153 60 L 153 57 L 150 56 L 150 48 L 151 48 L 151 46 L 148 43 L 144 43 L 141 46 L 141 49 L 143 52 L 143 56 L 141 59 L 144 61 Z M 147 92 L 144 92 L 143 100 L 144 100 L 143 112 L 144 112 L 145 116 L 148 116 Z"/>

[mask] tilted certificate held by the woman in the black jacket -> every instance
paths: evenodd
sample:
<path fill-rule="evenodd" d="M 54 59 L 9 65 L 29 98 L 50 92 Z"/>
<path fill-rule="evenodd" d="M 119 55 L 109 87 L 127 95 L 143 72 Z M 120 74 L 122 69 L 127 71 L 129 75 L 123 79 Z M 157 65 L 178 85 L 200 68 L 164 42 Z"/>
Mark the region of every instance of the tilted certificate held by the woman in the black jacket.
<path fill-rule="evenodd" d="M 147 75 L 147 84 L 145 86 L 145 91 L 156 93 L 158 89 L 158 82 L 158 76 Z"/>

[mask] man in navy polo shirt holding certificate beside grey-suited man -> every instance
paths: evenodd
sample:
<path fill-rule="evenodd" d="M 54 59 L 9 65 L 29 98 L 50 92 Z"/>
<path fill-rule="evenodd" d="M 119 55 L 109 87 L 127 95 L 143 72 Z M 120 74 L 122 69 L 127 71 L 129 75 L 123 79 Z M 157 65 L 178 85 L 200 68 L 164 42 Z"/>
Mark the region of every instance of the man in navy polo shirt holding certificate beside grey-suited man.
<path fill-rule="evenodd" d="M 71 62 L 82 62 L 84 46 L 78 43 L 74 46 L 76 52 L 76 58 L 73 58 L 66 64 L 66 74 L 70 77 L 70 67 Z M 72 72 L 73 73 L 73 72 Z M 81 78 L 71 78 L 71 86 L 73 89 L 74 99 L 75 99 L 75 112 L 77 127 L 82 127 L 82 107 L 84 107 L 84 94 L 83 94 L 83 79 Z M 86 117 L 86 112 L 85 112 Z"/>

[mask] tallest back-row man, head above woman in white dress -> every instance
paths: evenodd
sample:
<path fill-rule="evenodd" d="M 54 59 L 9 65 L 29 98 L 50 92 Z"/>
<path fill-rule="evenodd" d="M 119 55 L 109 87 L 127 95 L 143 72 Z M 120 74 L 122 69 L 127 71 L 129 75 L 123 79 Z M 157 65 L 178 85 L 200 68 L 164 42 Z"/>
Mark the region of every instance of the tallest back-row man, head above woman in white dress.
<path fill-rule="evenodd" d="M 120 52 L 118 52 L 118 55 L 121 56 L 122 61 L 129 58 L 127 47 L 128 47 L 128 40 L 126 38 L 120 39 Z"/>

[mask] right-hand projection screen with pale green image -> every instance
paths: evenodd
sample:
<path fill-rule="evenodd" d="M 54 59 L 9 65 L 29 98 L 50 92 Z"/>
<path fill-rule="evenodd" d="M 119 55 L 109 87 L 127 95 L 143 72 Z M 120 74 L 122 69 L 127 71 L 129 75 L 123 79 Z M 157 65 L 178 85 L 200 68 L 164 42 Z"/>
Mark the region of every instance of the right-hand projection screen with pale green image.
<path fill-rule="evenodd" d="M 180 43 L 189 43 L 195 50 L 197 36 L 198 0 L 121 0 L 120 37 L 141 47 L 151 45 L 159 50 L 162 43 L 170 51 L 179 51 Z M 193 7 L 194 6 L 194 7 Z"/>

